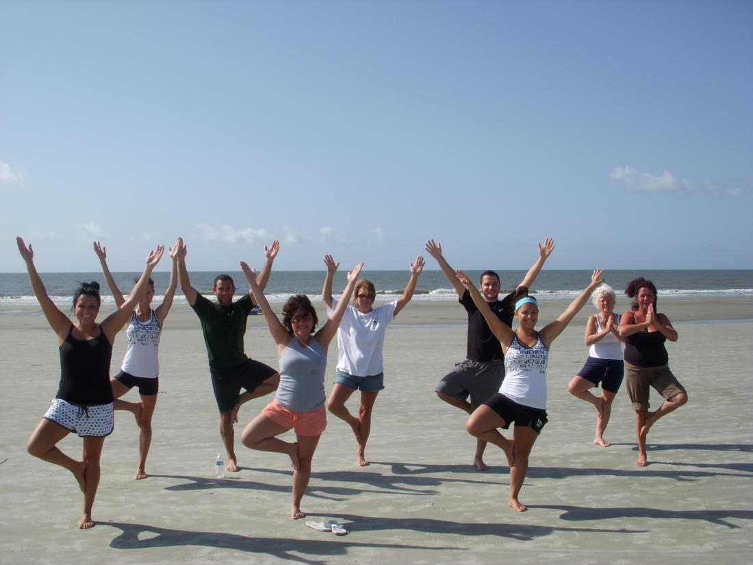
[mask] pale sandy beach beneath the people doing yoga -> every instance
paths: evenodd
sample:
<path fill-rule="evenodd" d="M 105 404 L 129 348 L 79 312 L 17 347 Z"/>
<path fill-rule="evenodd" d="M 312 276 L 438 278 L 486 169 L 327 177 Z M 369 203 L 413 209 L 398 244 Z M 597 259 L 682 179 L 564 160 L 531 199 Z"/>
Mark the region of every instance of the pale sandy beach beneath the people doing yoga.
<path fill-rule="evenodd" d="M 540 325 L 565 305 L 542 301 Z M 620 300 L 617 310 L 626 307 Z M 160 346 L 150 477 L 133 480 L 136 423 L 118 412 L 102 454 L 96 527 L 78 530 L 81 493 L 72 475 L 26 453 L 26 439 L 57 388 L 55 336 L 38 307 L 4 307 L 0 562 L 750 563 L 753 300 L 669 298 L 660 299 L 659 310 L 678 330 L 678 342 L 667 344 L 669 363 L 690 401 L 651 429 L 650 464 L 636 467 L 624 386 L 605 435 L 608 449 L 591 444 L 593 408 L 567 392 L 587 356 L 589 304 L 551 350 L 549 423 L 521 493 L 529 511 L 518 514 L 506 504 L 504 454 L 490 446 L 485 459 L 492 469 L 477 472 L 464 413 L 433 392 L 465 357 L 465 313 L 450 301 L 414 301 L 387 332 L 386 389 L 367 447 L 371 465 L 355 466 L 352 433 L 332 416 L 316 451 L 303 510 L 309 519 L 339 520 L 350 530 L 340 537 L 289 518 L 285 456 L 239 442 L 242 426 L 271 397 L 242 407 L 241 469 L 215 478 L 222 449 L 217 408 L 199 324 L 184 305 L 170 313 Z M 254 359 L 277 367 L 261 316 L 249 318 L 245 345 Z M 111 374 L 125 346 L 121 332 Z M 328 390 L 336 362 L 333 344 Z M 652 406 L 659 402 L 652 392 Z M 69 435 L 59 447 L 78 457 L 81 440 Z"/>

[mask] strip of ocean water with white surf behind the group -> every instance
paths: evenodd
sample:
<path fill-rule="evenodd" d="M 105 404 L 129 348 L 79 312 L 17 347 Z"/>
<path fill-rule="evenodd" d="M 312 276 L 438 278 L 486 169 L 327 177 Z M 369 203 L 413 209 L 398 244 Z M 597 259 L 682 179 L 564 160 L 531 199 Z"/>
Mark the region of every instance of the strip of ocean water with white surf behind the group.
<path fill-rule="evenodd" d="M 478 279 L 482 271 L 469 270 L 468 276 Z M 526 271 L 497 270 L 502 292 L 512 291 Z M 133 277 L 139 273 L 113 273 L 120 290 L 127 294 L 133 287 Z M 191 285 L 207 297 L 212 294 L 212 283 L 218 273 L 195 271 L 189 273 Z M 233 277 L 238 292 L 246 292 L 248 285 L 239 271 L 228 271 Z M 377 287 L 377 293 L 384 299 L 399 296 L 408 281 L 407 270 L 373 270 L 362 273 Z M 40 273 L 47 294 L 57 304 L 70 304 L 73 292 L 80 281 L 96 280 L 102 285 L 102 300 L 112 302 L 112 296 L 105 284 L 102 273 Z M 270 302 L 282 302 L 293 294 L 309 295 L 312 300 L 319 299 L 324 282 L 324 271 L 293 270 L 273 271 L 267 284 L 266 294 Z M 542 270 L 538 275 L 532 293 L 538 298 L 569 298 L 578 295 L 590 281 L 590 270 Z M 627 282 L 636 276 L 645 276 L 654 281 L 660 296 L 751 296 L 753 297 L 753 270 L 611 270 L 605 273 L 606 281 L 619 295 Z M 169 273 L 154 273 L 155 301 L 162 299 L 162 292 L 167 286 Z M 344 272 L 335 274 L 333 293 L 339 295 L 345 286 Z M 378 299 L 379 297 L 377 297 Z M 416 286 L 413 300 L 436 301 L 456 300 L 456 294 L 450 282 L 441 270 L 424 270 Z M 29 285 L 26 273 L 0 273 L 0 305 L 35 304 L 36 298 Z M 180 286 L 175 295 L 175 303 L 185 303 Z"/>

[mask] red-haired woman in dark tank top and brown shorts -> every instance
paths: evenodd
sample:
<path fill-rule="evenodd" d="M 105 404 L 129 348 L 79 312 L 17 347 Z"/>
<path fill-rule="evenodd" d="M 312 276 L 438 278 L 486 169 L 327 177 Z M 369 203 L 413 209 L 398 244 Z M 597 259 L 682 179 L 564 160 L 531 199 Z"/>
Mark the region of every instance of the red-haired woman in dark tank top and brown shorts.
<path fill-rule="evenodd" d="M 664 342 L 677 341 L 677 331 L 664 314 L 657 313 L 657 289 L 643 277 L 630 281 L 625 294 L 633 301 L 633 310 L 620 321 L 620 336 L 625 338 L 625 380 L 628 394 L 636 411 L 639 467 L 646 466 L 646 435 L 651 426 L 687 402 L 687 392 L 669 371 Z M 649 386 L 664 397 L 654 412 L 648 411 Z"/>

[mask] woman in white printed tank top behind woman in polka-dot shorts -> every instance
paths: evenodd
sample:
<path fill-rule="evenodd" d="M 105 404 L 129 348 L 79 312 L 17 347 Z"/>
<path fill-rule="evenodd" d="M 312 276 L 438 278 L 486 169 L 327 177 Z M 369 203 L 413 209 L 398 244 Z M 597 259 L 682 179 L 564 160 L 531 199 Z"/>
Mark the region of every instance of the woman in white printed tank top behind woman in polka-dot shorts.
<path fill-rule="evenodd" d="M 172 307 L 172 298 L 175 296 L 175 287 L 178 285 L 178 242 L 169 250 L 172 258 L 172 270 L 170 282 L 165 290 L 165 298 L 156 310 L 152 310 L 151 301 L 154 298 L 154 281 L 149 279 L 145 294 L 139 299 L 136 310 L 133 310 L 131 321 L 128 326 L 128 350 L 123 359 L 122 370 L 116 377 L 110 379 L 112 396 L 115 410 L 127 410 L 136 417 L 136 425 L 139 426 L 139 463 L 136 465 L 136 480 L 147 478 L 146 457 L 151 445 L 151 417 L 157 406 L 157 375 L 159 365 L 157 363 L 157 347 L 160 343 L 162 325 L 167 313 Z M 112 292 L 112 298 L 118 308 L 125 302 L 123 293 L 117 288 L 115 279 L 112 278 L 107 266 L 107 249 L 94 242 L 94 252 L 99 257 L 102 265 L 102 273 L 105 275 L 107 286 Z M 133 386 L 139 386 L 141 402 L 127 402 L 120 400 Z"/>

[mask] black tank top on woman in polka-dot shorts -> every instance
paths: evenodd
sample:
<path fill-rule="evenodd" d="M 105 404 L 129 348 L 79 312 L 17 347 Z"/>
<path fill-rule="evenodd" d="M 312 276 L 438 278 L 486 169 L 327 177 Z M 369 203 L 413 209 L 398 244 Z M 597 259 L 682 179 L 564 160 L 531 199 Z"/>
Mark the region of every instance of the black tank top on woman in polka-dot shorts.
<path fill-rule="evenodd" d="M 112 344 L 102 328 L 90 340 L 73 337 L 73 326 L 60 344 L 60 385 L 56 398 L 76 405 L 112 402 L 110 358 Z"/>

